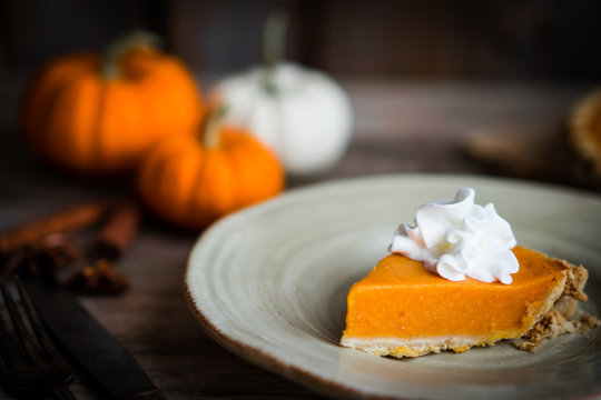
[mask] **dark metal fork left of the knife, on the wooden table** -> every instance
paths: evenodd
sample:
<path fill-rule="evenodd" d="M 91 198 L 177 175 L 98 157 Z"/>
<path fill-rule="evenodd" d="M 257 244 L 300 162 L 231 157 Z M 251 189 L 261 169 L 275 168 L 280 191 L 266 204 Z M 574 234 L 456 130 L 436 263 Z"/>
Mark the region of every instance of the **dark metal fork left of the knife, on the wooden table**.
<path fill-rule="evenodd" d="M 0 383 L 23 397 L 75 399 L 69 364 L 55 349 L 19 278 L 0 281 Z"/>

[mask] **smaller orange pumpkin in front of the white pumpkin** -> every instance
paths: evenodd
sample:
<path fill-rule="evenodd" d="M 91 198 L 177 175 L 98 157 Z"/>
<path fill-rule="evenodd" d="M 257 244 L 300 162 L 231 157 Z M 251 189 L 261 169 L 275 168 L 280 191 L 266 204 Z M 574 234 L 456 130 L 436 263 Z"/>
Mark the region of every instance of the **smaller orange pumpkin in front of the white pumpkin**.
<path fill-rule="evenodd" d="M 147 153 L 138 174 L 141 199 L 158 217 L 188 229 L 266 200 L 284 188 L 284 168 L 248 131 L 209 117 L 203 137 L 165 138 Z"/>

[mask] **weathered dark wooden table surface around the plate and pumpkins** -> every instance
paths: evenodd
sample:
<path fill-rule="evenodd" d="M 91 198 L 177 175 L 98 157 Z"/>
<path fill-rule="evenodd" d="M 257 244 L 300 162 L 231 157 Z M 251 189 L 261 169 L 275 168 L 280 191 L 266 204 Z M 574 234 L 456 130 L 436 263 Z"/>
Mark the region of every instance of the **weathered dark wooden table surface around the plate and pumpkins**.
<path fill-rule="evenodd" d="M 19 77 L 0 81 L 0 230 L 122 190 L 112 182 L 61 177 L 29 156 L 14 122 L 21 82 Z M 355 107 L 355 133 L 345 158 L 327 174 L 289 180 L 288 190 L 378 173 L 497 173 L 465 154 L 466 138 L 483 129 L 560 120 L 587 89 L 503 82 L 345 81 L 344 86 Z M 198 234 L 145 219 L 119 262 L 131 289 L 121 297 L 81 297 L 83 304 L 169 399 L 319 398 L 311 388 L 229 353 L 200 329 L 183 293 L 186 259 Z M 72 391 L 79 399 L 104 398 L 82 373 Z M 0 392 L 0 398 L 9 397 Z"/>

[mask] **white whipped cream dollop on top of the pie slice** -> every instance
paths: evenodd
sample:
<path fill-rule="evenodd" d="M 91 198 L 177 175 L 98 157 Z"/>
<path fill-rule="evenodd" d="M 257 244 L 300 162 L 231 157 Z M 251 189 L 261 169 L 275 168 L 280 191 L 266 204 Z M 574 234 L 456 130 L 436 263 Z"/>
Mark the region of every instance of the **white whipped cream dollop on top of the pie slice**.
<path fill-rule="evenodd" d="M 482 207 L 474 198 L 474 189 L 462 188 L 454 199 L 423 204 L 415 227 L 398 227 L 390 251 L 423 261 L 430 272 L 452 281 L 511 283 L 520 269 L 511 251 L 516 244 L 511 226 L 492 203 Z"/>

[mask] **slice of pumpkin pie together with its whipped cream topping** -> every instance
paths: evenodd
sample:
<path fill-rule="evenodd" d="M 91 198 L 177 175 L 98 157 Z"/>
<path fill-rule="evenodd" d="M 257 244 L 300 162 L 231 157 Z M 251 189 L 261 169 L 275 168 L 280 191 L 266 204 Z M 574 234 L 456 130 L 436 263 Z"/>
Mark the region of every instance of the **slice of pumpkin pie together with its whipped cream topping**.
<path fill-rule="evenodd" d="M 503 339 L 535 351 L 542 338 L 594 326 L 574 320 L 583 267 L 516 246 L 493 204 L 474 190 L 422 206 L 348 293 L 341 343 L 377 356 L 463 352 Z"/>

